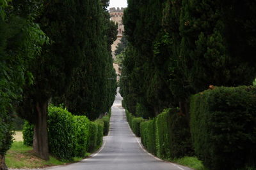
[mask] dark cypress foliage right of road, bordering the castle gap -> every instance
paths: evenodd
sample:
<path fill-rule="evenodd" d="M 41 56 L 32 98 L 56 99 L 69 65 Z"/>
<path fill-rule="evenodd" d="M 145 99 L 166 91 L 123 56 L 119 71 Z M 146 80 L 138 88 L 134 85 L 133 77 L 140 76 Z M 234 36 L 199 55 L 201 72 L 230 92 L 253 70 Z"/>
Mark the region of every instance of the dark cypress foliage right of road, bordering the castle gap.
<path fill-rule="evenodd" d="M 143 118 L 156 117 L 173 101 L 169 89 L 169 52 L 162 40 L 163 2 L 129 0 L 124 12 L 125 34 L 129 41 L 125 50 L 120 88 L 127 110 L 135 114 L 137 103 L 145 108 Z M 161 48 L 161 49 L 159 49 Z M 136 99 L 134 99 L 136 98 Z"/>

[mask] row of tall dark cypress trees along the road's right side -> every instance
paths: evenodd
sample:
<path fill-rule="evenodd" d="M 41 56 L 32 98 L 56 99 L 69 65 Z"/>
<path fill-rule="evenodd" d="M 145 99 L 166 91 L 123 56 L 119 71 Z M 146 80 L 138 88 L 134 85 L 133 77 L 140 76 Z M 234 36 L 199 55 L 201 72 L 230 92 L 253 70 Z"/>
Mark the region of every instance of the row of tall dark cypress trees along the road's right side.
<path fill-rule="evenodd" d="M 127 109 L 135 114 L 139 103 L 152 117 L 179 106 L 188 115 L 189 96 L 209 85 L 252 84 L 254 7 L 254 1 L 129 0 L 125 34 L 136 55 L 124 59 Z"/>

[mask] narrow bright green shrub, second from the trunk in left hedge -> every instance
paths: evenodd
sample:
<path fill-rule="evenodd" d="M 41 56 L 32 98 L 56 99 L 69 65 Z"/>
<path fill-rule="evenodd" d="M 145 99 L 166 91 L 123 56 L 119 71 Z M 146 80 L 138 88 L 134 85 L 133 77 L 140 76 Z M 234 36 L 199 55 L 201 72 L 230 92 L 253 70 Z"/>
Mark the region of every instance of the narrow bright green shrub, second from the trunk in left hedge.
<path fill-rule="evenodd" d="M 85 116 L 74 116 L 76 122 L 75 156 L 84 157 L 88 151 L 90 120 Z"/>

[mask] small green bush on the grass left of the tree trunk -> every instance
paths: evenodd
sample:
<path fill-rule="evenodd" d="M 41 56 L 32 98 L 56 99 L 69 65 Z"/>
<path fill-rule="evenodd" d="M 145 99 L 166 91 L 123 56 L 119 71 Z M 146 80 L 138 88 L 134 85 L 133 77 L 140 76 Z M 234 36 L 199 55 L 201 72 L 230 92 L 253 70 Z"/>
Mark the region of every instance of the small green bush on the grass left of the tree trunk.
<path fill-rule="evenodd" d="M 34 136 L 34 125 L 25 122 L 22 130 L 23 143 L 26 146 L 33 146 L 33 136 Z"/>

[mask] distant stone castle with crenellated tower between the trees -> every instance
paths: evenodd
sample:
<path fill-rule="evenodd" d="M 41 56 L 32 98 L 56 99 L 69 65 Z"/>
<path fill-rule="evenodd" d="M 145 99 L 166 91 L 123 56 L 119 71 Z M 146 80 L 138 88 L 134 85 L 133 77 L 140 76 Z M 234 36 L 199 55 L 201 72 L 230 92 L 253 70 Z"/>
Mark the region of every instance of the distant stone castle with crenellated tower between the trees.
<path fill-rule="evenodd" d="M 123 20 L 122 20 L 122 17 L 124 15 L 124 8 L 121 8 L 121 9 L 120 8 L 110 8 L 109 15 L 110 15 L 110 20 L 112 20 L 113 22 L 118 24 L 117 38 L 114 41 L 113 45 L 111 45 L 112 57 L 113 57 L 113 59 L 115 59 L 116 46 L 118 45 L 118 43 L 120 43 L 120 41 L 123 37 L 123 33 L 124 33 L 124 24 L 123 24 Z M 121 75 L 121 70 L 120 70 L 118 64 L 113 63 L 113 67 L 115 68 L 116 74 L 118 75 L 116 80 L 119 81 L 120 75 Z"/>

